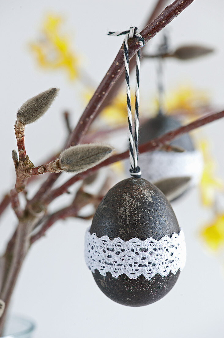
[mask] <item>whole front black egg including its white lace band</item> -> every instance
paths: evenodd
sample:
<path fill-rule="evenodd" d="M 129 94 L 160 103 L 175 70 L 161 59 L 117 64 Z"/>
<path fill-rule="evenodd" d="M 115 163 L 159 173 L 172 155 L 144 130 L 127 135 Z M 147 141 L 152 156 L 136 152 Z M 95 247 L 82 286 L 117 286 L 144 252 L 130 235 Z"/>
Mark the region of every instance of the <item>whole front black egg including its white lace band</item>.
<path fill-rule="evenodd" d="M 96 284 L 123 305 L 159 300 L 174 286 L 185 263 L 179 250 L 185 251 L 184 240 L 177 244 L 173 239 L 179 232 L 172 207 L 156 186 L 143 178 L 119 182 L 102 199 L 86 237 L 86 262 Z M 167 270 L 172 264 L 175 271 Z"/>

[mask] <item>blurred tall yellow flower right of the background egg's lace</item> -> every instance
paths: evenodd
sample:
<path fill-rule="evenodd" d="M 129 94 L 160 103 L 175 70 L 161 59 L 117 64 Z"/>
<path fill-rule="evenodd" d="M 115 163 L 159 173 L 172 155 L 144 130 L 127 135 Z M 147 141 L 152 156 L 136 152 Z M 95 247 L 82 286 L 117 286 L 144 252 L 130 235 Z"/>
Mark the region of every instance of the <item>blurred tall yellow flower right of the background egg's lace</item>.
<path fill-rule="evenodd" d="M 215 201 L 216 190 L 223 189 L 223 182 L 215 176 L 216 164 L 209 153 L 207 141 L 201 141 L 200 148 L 204 158 L 204 169 L 200 182 L 201 199 L 204 206 L 211 207 Z"/>

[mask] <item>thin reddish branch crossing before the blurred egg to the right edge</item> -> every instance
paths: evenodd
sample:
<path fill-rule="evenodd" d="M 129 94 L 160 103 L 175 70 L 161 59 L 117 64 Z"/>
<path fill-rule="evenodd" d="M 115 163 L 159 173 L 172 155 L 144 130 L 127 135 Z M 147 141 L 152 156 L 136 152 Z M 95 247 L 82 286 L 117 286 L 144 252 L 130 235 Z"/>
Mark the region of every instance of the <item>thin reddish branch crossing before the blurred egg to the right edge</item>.
<path fill-rule="evenodd" d="M 202 117 L 200 119 L 197 119 L 197 120 L 187 124 L 186 126 L 180 127 L 178 129 L 172 130 L 170 132 L 167 132 L 166 134 L 164 134 L 164 135 L 162 135 L 162 136 L 160 136 L 160 137 L 158 137 L 158 138 L 156 138 L 152 141 L 149 141 L 145 144 L 140 145 L 139 146 L 139 153 L 159 149 L 159 148 L 163 147 L 166 143 L 174 140 L 175 138 L 179 137 L 180 135 L 183 135 L 187 132 L 190 132 L 193 129 L 196 129 L 196 128 L 201 127 L 201 126 L 203 126 L 207 123 L 218 120 L 222 117 L 224 117 L 224 111 L 219 112 L 219 113 L 214 113 L 214 114 L 211 114 L 211 115 L 207 115 L 205 117 Z M 75 182 L 77 182 L 80 179 L 87 177 L 90 173 L 93 173 L 94 171 L 96 171 L 96 170 L 98 170 L 102 167 L 105 167 L 109 164 L 112 164 L 114 162 L 124 160 L 124 159 L 128 158 L 128 156 L 129 156 L 128 150 L 123 152 L 123 153 L 120 153 L 120 154 L 115 154 L 115 155 L 111 156 L 110 158 L 108 158 L 107 160 L 105 160 L 104 162 L 98 164 L 96 167 L 91 168 L 91 169 L 85 171 L 84 173 L 81 173 L 81 174 L 78 174 L 78 175 L 71 177 L 61 187 L 51 191 L 51 193 L 45 198 L 44 203 L 46 203 L 46 204 L 50 203 L 55 198 L 57 198 L 58 196 L 60 196 L 64 192 L 66 192 L 72 184 L 74 184 Z"/>

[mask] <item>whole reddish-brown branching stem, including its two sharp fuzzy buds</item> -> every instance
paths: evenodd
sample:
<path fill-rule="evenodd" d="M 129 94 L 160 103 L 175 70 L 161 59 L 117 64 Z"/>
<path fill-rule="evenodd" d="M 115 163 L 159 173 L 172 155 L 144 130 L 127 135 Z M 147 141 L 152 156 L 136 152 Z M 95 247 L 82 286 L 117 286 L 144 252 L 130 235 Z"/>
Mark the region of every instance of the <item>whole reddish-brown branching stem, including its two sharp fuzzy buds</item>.
<path fill-rule="evenodd" d="M 193 0 L 175 0 L 154 20 L 155 14 L 158 15 L 158 10 L 165 2 L 166 0 L 158 1 L 154 13 L 151 16 L 153 21 L 148 23 L 146 28 L 141 31 L 141 35 L 146 43 L 189 6 Z M 140 46 L 135 39 L 130 39 L 128 48 L 129 58 L 131 59 L 140 49 Z M 186 56 L 183 56 L 183 49 L 182 54 L 180 52 L 181 51 L 179 50 L 178 54 L 176 50 L 175 57 L 179 55 L 179 59 L 186 58 Z M 197 52 L 202 54 L 203 51 L 200 50 Z M 189 53 L 188 50 L 188 58 Z M 194 57 L 196 56 L 197 55 L 195 54 Z M 73 131 L 71 131 L 68 115 L 65 113 L 64 116 L 69 134 L 68 140 L 65 147 L 62 147 L 60 154 L 56 156 L 57 158 L 54 158 L 53 156 L 46 164 L 35 167 L 30 161 L 25 149 L 25 126 L 35 122 L 47 111 L 56 98 L 58 89 L 51 88 L 27 100 L 17 113 L 14 130 L 17 139 L 18 155 L 15 150 L 12 151 L 12 159 L 16 172 L 16 183 L 15 187 L 9 194 L 5 195 L 0 203 L 0 214 L 5 210 L 10 201 L 11 206 L 18 217 L 18 225 L 6 246 L 5 253 L 1 257 L 0 262 L 0 335 L 3 330 L 5 316 L 15 282 L 31 244 L 41 238 L 57 220 L 65 219 L 67 217 L 82 217 L 79 215 L 79 211 L 88 204 L 92 204 L 94 208 L 96 208 L 103 194 L 109 189 L 108 181 L 106 181 L 101 190 L 94 195 L 87 193 L 85 191 L 85 186 L 94 182 L 96 178 L 95 173 L 100 168 L 128 158 L 128 150 L 120 154 L 113 154 L 113 147 L 107 144 L 82 144 L 87 140 L 91 142 L 95 140 L 94 137 L 96 137 L 96 135 L 88 135 L 87 132 L 91 123 L 98 116 L 102 108 L 108 104 L 114 96 L 116 88 L 119 87 L 119 82 L 116 84 L 116 81 L 118 81 L 119 78 L 121 79 L 120 76 L 123 70 L 123 47 L 121 47 L 114 62 L 101 81 Z M 170 146 L 169 143 L 176 137 L 223 116 L 224 111 L 195 120 L 186 126 L 180 127 L 146 144 L 140 145 L 139 152 L 153 151 L 156 149 L 183 151 L 183 149 L 178 147 Z M 105 130 L 98 131 L 97 135 L 105 136 Z M 53 189 L 53 184 L 63 171 L 73 172 L 75 175 L 60 187 Z M 25 208 L 22 208 L 19 201 L 19 193 L 23 191 L 26 192 L 25 189 L 29 178 L 44 173 L 51 173 L 51 175 L 49 175 L 46 181 L 41 185 L 36 195 L 33 196 L 31 200 L 27 201 Z M 49 215 L 47 211 L 48 205 L 58 196 L 68 192 L 68 188 L 78 180 L 83 180 L 83 184 L 81 188 L 78 189 L 72 202 L 68 206 Z M 188 178 L 186 177 L 182 183 L 185 185 L 188 184 Z M 164 182 L 160 182 L 160 184 L 163 185 Z M 84 216 L 83 218 L 85 219 L 88 217 L 89 216 Z"/>

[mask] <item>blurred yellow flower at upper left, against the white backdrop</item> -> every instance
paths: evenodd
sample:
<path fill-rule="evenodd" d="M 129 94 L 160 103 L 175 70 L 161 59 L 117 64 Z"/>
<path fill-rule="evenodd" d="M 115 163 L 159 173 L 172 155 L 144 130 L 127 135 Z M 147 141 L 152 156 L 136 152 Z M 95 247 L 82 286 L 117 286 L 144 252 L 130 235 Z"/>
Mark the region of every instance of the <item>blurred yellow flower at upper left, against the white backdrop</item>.
<path fill-rule="evenodd" d="M 61 23 L 60 16 L 48 15 L 42 27 L 44 39 L 31 43 L 30 47 L 41 67 L 64 68 L 73 80 L 78 77 L 78 57 L 72 51 L 68 37 L 60 33 Z"/>

